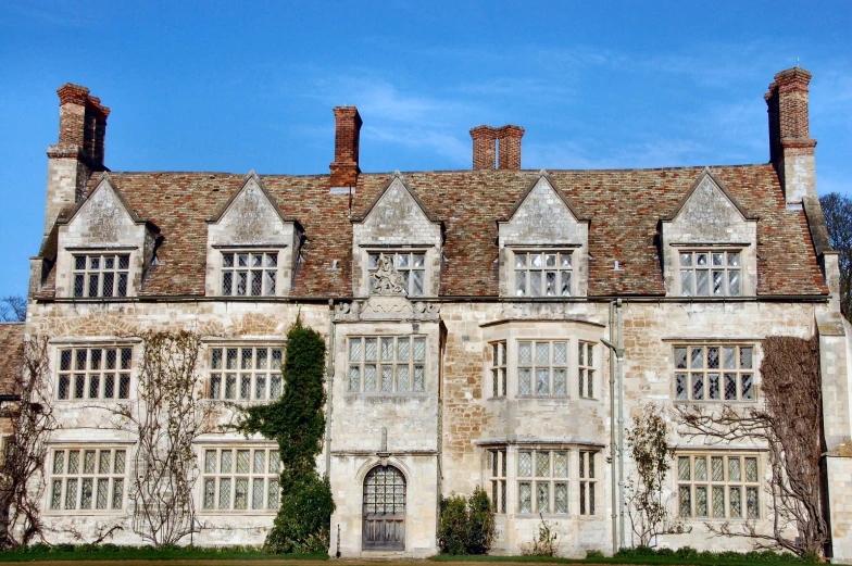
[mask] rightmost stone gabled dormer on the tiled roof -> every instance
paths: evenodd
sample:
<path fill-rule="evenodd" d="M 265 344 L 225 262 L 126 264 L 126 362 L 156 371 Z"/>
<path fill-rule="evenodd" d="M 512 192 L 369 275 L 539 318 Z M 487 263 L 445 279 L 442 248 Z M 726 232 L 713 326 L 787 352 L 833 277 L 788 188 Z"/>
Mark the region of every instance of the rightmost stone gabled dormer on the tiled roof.
<path fill-rule="evenodd" d="M 748 297 L 757 288 L 757 217 L 710 168 L 661 219 L 669 297 Z"/>

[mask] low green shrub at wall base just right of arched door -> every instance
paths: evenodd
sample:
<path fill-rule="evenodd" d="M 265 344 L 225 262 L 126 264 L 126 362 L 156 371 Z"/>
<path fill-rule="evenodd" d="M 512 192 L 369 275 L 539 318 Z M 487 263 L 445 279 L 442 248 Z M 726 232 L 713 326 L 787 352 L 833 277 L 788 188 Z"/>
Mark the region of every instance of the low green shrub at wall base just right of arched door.
<path fill-rule="evenodd" d="M 485 490 L 477 486 L 469 498 L 441 499 L 438 543 L 448 554 L 487 554 L 494 539 L 494 513 Z"/>

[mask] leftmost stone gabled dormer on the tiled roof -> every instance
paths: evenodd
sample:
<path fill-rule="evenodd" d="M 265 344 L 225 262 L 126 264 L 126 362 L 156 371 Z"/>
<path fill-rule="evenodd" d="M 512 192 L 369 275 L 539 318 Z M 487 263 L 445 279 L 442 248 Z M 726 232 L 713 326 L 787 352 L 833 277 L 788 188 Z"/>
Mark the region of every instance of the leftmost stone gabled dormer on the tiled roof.
<path fill-rule="evenodd" d="M 151 267 L 160 228 L 127 203 L 109 174 L 57 221 L 57 297 L 135 297 Z"/>

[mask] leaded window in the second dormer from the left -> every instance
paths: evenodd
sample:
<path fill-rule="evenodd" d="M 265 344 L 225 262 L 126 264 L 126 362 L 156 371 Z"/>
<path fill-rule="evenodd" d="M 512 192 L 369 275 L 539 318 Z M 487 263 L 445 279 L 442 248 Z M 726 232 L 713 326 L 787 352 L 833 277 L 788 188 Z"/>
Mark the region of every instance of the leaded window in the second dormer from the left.
<path fill-rule="evenodd" d="M 275 297 L 278 252 L 223 252 L 222 294 Z"/>

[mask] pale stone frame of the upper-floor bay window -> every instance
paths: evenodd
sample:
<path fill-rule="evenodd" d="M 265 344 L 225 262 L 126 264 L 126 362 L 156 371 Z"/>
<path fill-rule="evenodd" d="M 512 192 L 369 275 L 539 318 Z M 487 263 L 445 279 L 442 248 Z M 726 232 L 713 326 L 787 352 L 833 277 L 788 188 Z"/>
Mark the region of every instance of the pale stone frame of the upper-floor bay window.
<path fill-rule="evenodd" d="M 483 398 L 487 401 L 500 402 L 508 399 L 517 399 L 525 403 L 531 401 L 549 401 L 556 403 L 585 402 L 599 403 L 603 399 L 601 380 L 593 382 L 593 397 L 579 397 L 579 366 L 578 343 L 586 342 L 594 348 L 593 373 L 601 375 L 603 357 L 599 343 L 603 336 L 604 325 L 579 319 L 503 319 L 479 325 L 483 329 Z M 506 391 L 505 395 L 494 397 L 493 392 L 493 347 L 494 342 L 506 344 Z M 567 342 L 567 394 L 565 395 L 535 395 L 518 394 L 518 342 L 524 341 L 551 341 Z M 552 350 L 552 349 L 551 349 Z M 551 377 L 552 382 L 552 377 Z"/>

